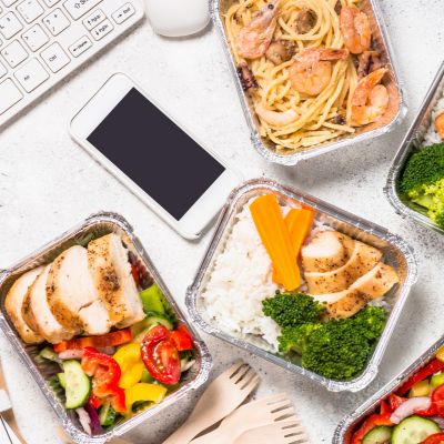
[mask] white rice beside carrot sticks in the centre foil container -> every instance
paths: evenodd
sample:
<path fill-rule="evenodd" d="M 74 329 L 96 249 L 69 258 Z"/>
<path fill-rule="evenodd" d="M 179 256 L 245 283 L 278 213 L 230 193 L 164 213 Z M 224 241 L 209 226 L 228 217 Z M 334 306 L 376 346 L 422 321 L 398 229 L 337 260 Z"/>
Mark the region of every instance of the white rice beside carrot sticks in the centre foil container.
<path fill-rule="evenodd" d="M 290 206 L 282 208 L 285 215 Z M 312 235 L 330 229 L 314 223 Z M 281 329 L 262 312 L 262 301 L 279 286 L 272 280 L 272 263 L 250 213 L 250 202 L 236 215 L 222 253 L 215 259 L 210 280 L 201 293 L 210 321 L 224 332 L 278 352 Z M 302 282 L 300 287 L 305 289 Z M 256 341 L 260 340 L 260 341 Z"/>

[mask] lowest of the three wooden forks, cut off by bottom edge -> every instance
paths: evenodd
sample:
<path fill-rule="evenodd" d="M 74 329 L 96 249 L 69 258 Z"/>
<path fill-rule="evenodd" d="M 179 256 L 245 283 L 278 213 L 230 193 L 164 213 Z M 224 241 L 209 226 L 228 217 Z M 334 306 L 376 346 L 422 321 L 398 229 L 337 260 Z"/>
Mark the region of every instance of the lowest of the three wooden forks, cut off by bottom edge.
<path fill-rule="evenodd" d="M 258 428 L 239 436 L 233 444 L 309 444 L 305 430 L 296 416 Z"/>

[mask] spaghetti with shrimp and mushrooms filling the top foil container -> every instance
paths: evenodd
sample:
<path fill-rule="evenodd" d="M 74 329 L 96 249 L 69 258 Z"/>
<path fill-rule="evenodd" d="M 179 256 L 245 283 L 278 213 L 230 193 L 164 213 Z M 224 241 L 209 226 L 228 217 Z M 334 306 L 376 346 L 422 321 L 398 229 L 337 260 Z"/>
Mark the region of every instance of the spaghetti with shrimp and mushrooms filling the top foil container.
<path fill-rule="evenodd" d="M 387 71 L 355 0 L 236 0 L 226 36 L 260 122 L 278 152 L 303 151 L 380 119 Z"/>

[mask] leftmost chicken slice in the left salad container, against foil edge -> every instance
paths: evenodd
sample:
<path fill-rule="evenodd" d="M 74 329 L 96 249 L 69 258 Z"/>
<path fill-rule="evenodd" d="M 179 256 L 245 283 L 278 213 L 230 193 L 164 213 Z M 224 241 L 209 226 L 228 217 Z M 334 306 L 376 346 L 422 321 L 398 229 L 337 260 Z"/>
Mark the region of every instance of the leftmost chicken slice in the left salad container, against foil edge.
<path fill-rule="evenodd" d="M 21 307 L 23 305 L 23 300 L 27 295 L 28 289 L 33 284 L 42 270 L 43 266 L 39 266 L 22 274 L 13 283 L 4 299 L 4 307 L 7 310 L 7 313 L 14 324 L 16 330 L 19 332 L 20 337 L 27 344 L 40 344 L 41 342 L 43 342 L 43 337 L 40 336 L 37 331 L 29 327 L 21 314 Z"/>

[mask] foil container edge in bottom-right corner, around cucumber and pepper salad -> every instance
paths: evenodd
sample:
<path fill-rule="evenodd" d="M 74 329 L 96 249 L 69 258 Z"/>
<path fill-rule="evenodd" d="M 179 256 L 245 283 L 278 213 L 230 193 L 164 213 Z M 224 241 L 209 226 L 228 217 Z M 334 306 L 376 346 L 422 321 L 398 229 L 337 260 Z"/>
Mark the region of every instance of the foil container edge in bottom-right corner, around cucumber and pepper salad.
<path fill-rule="evenodd" d="M 376 407 L 381 400 L 387 397 L 392 392 L 396 390 L 408 380 L 412 374 L 433 360 L 436 351 L 444 345 L 444 336 L 432 345 L 422 356 L 420 356 L 410 367 L 404 370 L 400 375 L 394 377 L 384 387 L 382 387 L 377 393 L 375 393 L 370 400 L 356 408 L 353 413 L 345 416 L 340 425 L 336 427 L 333 435 L 333 444 L 350 444 L 352 440 L 353 432 L 357 424 L 361 423 L 366 416 L 375 413 Z"/>

